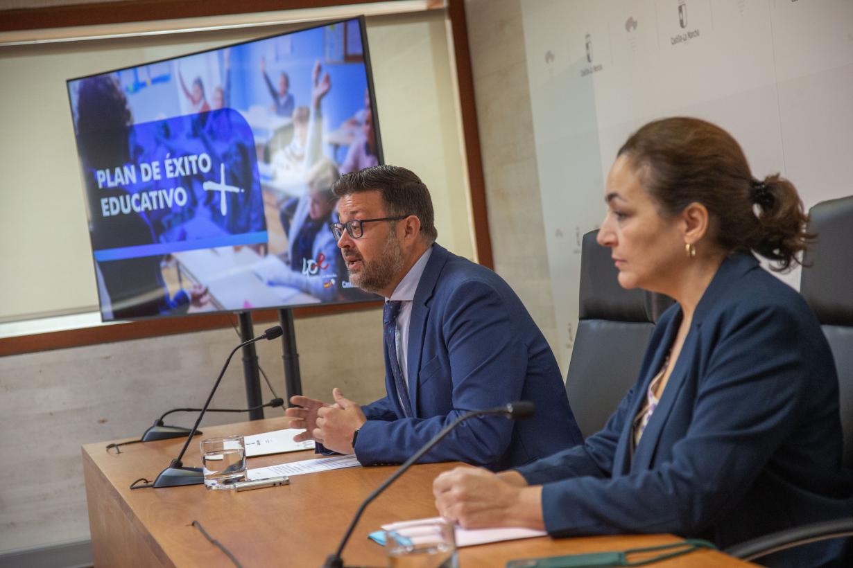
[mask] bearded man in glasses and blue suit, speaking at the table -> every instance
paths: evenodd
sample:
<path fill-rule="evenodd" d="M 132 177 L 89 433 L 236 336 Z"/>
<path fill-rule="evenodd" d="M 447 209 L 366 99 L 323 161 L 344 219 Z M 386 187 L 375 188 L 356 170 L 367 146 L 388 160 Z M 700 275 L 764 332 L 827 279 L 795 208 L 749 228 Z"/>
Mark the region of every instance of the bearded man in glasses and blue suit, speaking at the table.
<path fill-rule="evenodd" d="M 411 171 L 376 166 L 334 186 L 333 230 L 350 282 L 386 298 L 385 398 L 359 406 L 293 397 L 293 427 L 363 465 L 403 462 L 467 410 L 531 400 L 524 422 L 465 422 L 424 456 L 491 469 L 519 466 L 583 439 L 542 332 L 495 273 L 438 244 L 427 186 Z M 353 373 L 357 375 L 357 369 Z"/>

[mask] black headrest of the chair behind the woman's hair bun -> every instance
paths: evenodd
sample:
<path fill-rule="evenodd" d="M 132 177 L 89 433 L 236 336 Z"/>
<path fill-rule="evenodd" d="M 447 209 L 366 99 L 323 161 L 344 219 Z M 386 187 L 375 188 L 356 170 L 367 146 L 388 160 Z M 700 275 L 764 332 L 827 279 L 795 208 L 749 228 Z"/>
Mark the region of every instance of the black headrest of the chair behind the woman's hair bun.
<path fill-rule="evenodd" d="M 800 293 L 821 324 L 853 326 L 853 196 L 809 209 L 809 232 Z"/>

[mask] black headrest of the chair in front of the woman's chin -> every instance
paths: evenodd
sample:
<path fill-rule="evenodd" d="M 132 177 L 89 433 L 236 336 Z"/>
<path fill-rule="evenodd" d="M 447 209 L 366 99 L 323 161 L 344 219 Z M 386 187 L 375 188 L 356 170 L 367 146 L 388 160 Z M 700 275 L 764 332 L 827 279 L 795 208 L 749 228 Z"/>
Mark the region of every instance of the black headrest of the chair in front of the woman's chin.
<path fill-rule="evenodd" d="M 581 250 L 581 319 L 608 319 L 623 322 L 658 321 L 673 303 L 669 296 L 646 290 L 625 290 L 618 282 L 618 269 L 610 249 L 595 241 L 598 231 L 583 235 Z"/>

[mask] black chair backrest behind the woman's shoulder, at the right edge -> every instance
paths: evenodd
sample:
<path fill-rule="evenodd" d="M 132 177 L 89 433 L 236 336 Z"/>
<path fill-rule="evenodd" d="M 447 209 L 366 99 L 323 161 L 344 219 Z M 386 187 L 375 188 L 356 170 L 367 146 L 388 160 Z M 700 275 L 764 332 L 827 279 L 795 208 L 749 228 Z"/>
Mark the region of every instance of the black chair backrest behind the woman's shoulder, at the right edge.
<path fill-rule="evenodd" d="M 809 209 L 817 243 L 804 256 L 800 292 L 821 322 L 838 370 L 844 467 L 853 471 L 853 196 Z"/>

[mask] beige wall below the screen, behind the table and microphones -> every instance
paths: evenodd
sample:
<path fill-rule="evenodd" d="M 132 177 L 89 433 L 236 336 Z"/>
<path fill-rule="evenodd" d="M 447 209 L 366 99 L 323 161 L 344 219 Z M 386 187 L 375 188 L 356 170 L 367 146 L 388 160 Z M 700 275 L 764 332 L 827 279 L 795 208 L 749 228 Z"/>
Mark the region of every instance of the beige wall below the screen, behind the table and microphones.
<path fill-rule="evenodd" d="M 305 394 L 331 399 L 332 387 L 339 386 L 358 403 L 383 396 L 381 319 L 374 309 L 297 320 Z M 256 325 L 256 332 L 270 325 Z M 0 553 L 88 538 L 80 445 L 136 438 L 166 410 L 200 407 L 239 341 L 234 330 L 215 330 L 0 359 L 0 455 L 12 460 L 0 488 Z M 258 342 L 257 350 L 283 397 L 281 340 Z M 238 352 L 212 407 L 246 407 L 242 373 Z M 263 378 L 261 384 L 269 400 Z M 265 415 L 283 413 L 267 409 Z M 211 413 L 202 430 L 245 419 Z M 176 413 L 165 422 L 191 427 L 194 420 L 193 414 Z M 157 473 L 139 477 L 154 479 Z"/>

